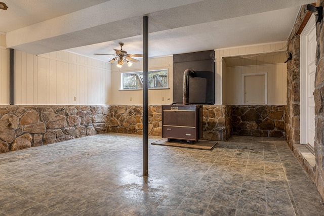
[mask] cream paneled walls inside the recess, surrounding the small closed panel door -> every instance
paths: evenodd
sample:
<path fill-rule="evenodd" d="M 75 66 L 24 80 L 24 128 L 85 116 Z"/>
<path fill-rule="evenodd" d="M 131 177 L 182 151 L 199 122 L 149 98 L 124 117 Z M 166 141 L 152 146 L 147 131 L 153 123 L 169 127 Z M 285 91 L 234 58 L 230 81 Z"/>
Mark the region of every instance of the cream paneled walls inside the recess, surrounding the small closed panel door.
<path fill-rule="evenodd" d="M 224 86 L 227 92 L 224 101 L 227 104 L 244 104 L 242 99 L 242 74 L 267 72 L 267 98 L 268 104 L 287 104 L 287 65 L 271 64 L 242 67 L 228 67 L 227 84 Z"/>

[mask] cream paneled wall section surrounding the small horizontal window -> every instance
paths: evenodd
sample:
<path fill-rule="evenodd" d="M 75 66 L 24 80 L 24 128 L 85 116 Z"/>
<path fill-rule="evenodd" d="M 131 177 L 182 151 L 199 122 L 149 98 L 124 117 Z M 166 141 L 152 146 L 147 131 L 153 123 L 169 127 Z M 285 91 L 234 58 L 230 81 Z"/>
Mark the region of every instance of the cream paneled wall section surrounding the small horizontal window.
<path fill-rule="evenodd" d="M 149 90 L 149 104 L 171 104 L 173 101 L 173 57 L 151 58 L 148 60 L 149 70 L 168 69 L 169 89 Z M 131 67 L 126 64 L 117 68 L 116 64 L 111 64 L 111 104 L 143 104 L 142 90 L 120 91 L 121 73 L 143 71 L 143 61 L 134 63 Z M 132 98 L 132 99 L 131 99 Z M 164 100 L 163 100 L 164 98 Z M 168 100 L 169 99 L 169 100 Z"/>

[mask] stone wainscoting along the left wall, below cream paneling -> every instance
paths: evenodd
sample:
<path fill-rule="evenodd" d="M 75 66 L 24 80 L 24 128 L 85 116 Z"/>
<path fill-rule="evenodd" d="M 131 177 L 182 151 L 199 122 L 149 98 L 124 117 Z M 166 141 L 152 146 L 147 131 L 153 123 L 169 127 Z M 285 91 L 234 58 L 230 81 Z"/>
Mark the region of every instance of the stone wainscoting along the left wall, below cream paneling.
<path fill-rule="evenodd" d="M 0 153 L 106 133 L 109 106 L 0 106 Z"/>

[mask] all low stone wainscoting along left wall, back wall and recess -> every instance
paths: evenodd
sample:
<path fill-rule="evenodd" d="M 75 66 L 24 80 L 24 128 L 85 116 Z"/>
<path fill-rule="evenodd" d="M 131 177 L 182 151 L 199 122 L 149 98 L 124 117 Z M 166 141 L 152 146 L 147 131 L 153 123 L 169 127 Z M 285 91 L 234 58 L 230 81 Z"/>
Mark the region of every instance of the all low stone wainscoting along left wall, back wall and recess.
<path fill-rule="evenodd" d="M 275 105 L 204 105 L 203 140 L 226 141 L 233 132 L 244 131 L 238 131 L 238 126 L 243 125 L 253 133 L 242 135 L 284 137 L 284 110 L 284 106 Z M 151 136 L 161 136 L 161 113 L 161 105 L 149 105 L 148 133 Z M 141 105 L 0 106 L 0 153 L 100 133 L 142 135 L 142 117 Z M 258 128 L 253 129 L 254 126 Z"/>

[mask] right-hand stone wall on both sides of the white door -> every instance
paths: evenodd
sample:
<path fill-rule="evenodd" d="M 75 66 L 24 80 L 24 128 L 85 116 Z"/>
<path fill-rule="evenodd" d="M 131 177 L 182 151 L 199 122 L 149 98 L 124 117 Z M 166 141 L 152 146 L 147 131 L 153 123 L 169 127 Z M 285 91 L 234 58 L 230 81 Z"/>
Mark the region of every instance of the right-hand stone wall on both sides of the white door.
<path fill-rule="evenodd" d="M 324 0 L 318 0 L 316 7 L 324 7 Z M 287 52 L 292 53 L 293 59 L 287 63 L 287 109 L 286 109 L 286 140 L 298 157 L 300 133 L 300 35 L 298 29 L 307 13 L 306 5 L 300 10 L 291 35 L 288 38 Z M 315 72 L 315 185 L 324 198 L 324 21 L 316 23 L 316 72 Z M 314 23 L 315 25 L 315 23 Z M 307 170 L 306 170 L 307 171 Z M 309 173 L 309 172 L 308 172 Z M 313 178 L 311 178 L 313 179 Z"/>

